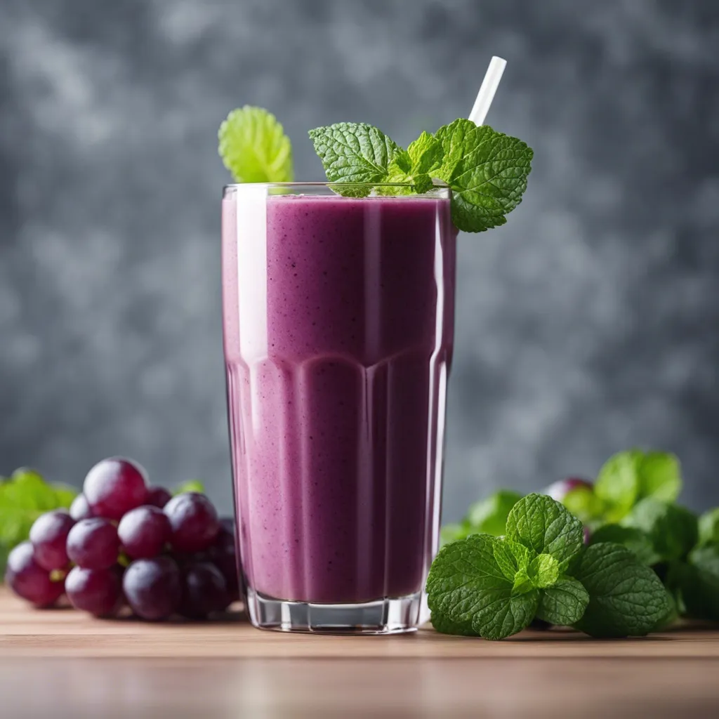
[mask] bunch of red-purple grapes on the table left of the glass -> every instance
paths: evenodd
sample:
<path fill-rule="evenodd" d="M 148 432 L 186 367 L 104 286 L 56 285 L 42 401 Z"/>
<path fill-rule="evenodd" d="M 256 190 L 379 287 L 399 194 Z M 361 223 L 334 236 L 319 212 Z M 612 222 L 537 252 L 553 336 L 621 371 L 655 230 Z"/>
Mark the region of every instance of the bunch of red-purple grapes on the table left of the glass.
<path fill-rule="evenodd" d="M 10 553 L 5 581 L 37 607 L 65 593 L 98 617 L 127 603 L 147 620 L 206 618 L 239 598 L 232 520 L 220 520 L 203 494 L 148 487 L 129 459 L 103 459 L 69 513 L 35 521 Z"/>

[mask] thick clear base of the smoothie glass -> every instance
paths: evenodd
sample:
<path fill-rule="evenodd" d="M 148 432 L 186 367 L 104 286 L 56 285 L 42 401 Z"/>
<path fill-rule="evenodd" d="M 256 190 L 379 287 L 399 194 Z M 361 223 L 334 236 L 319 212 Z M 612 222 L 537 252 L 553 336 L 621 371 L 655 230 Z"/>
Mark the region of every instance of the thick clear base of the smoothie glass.
<path fill-rule="evenodd" d="M 253 626 L 317 634 L 400 634 L 415 631 L 422 592 L 361 604 L 312 604 L 273 599 L 247 587 L 244 601 Z"/>

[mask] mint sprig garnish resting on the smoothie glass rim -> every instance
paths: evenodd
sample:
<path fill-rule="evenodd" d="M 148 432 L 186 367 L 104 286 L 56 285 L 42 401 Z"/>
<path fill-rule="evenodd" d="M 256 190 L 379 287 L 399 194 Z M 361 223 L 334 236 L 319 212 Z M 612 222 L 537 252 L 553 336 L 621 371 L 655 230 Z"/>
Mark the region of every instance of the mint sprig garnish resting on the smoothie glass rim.
<path fill-rule="evenodd" d="M 340 193 L 371 189 L 342 188 L 343 183 L 406 183 L 423 193 L 432 180 L 441 180 L 452 188 L 452 221 L 466 232 L 504 224 L 521 202 L 531 171 L 533 152 L 525 142 L 468 119 L 444 125 L 434 135 L 423 132 L 407 150 L 365 123 L 339 122 L 309 134 L 327 179 L 338 183 Z"/>

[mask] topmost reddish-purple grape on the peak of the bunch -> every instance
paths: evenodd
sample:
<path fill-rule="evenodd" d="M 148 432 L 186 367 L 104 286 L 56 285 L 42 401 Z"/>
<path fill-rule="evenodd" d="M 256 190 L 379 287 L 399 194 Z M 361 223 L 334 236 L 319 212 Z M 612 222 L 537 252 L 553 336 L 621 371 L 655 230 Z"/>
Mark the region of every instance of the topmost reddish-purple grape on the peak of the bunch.
<path fill-rule="evenodd" d="M 85 477 L 83 494 L 93 516 L 119 521 L 124 513 L 145 504 L 145 470 L 132 459 L 103 459 Z"/>

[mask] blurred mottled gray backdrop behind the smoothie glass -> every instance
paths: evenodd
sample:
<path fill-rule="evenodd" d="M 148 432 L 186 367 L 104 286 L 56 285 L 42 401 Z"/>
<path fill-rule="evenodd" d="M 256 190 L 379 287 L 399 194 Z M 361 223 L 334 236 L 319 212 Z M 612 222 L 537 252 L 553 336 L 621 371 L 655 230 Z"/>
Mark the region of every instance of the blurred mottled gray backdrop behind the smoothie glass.
<path fill-rule="evenodd" d="M 535 150 L 461 238 L 445 516 L 634 444 L 719 503 L 715 0 L 0 0 L 0 473 L 109 454 L 229 508 L 216 129 L 272 109 L 297 175 L 343 119 L 467 114 Z"/>

